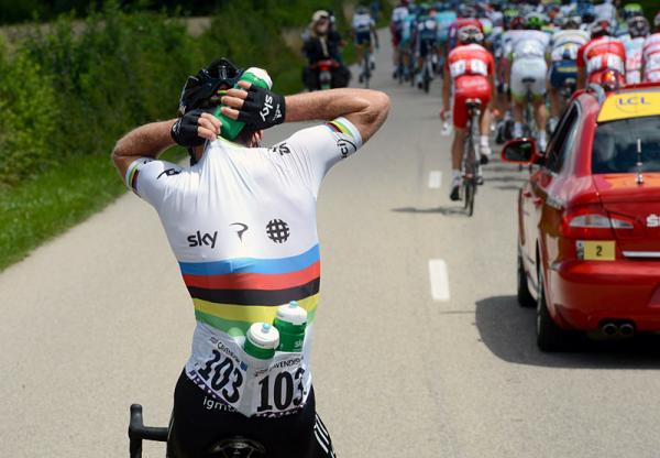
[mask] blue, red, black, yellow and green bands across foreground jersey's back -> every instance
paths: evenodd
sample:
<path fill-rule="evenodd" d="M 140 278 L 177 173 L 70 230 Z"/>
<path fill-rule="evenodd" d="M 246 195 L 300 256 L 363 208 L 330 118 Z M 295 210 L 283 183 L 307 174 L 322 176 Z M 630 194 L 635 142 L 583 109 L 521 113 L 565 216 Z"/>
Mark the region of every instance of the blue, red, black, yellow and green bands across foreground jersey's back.
<path fill-rule="evenodd" d="M 239 258 L 179 262 L 195 304 L 195 316 L 231 336 L 244 335 L 252 323 L 271 323 L 277 306 L 297 301 L 314 319 L 320 286 L 318 244 L 282 259 Z"/>

